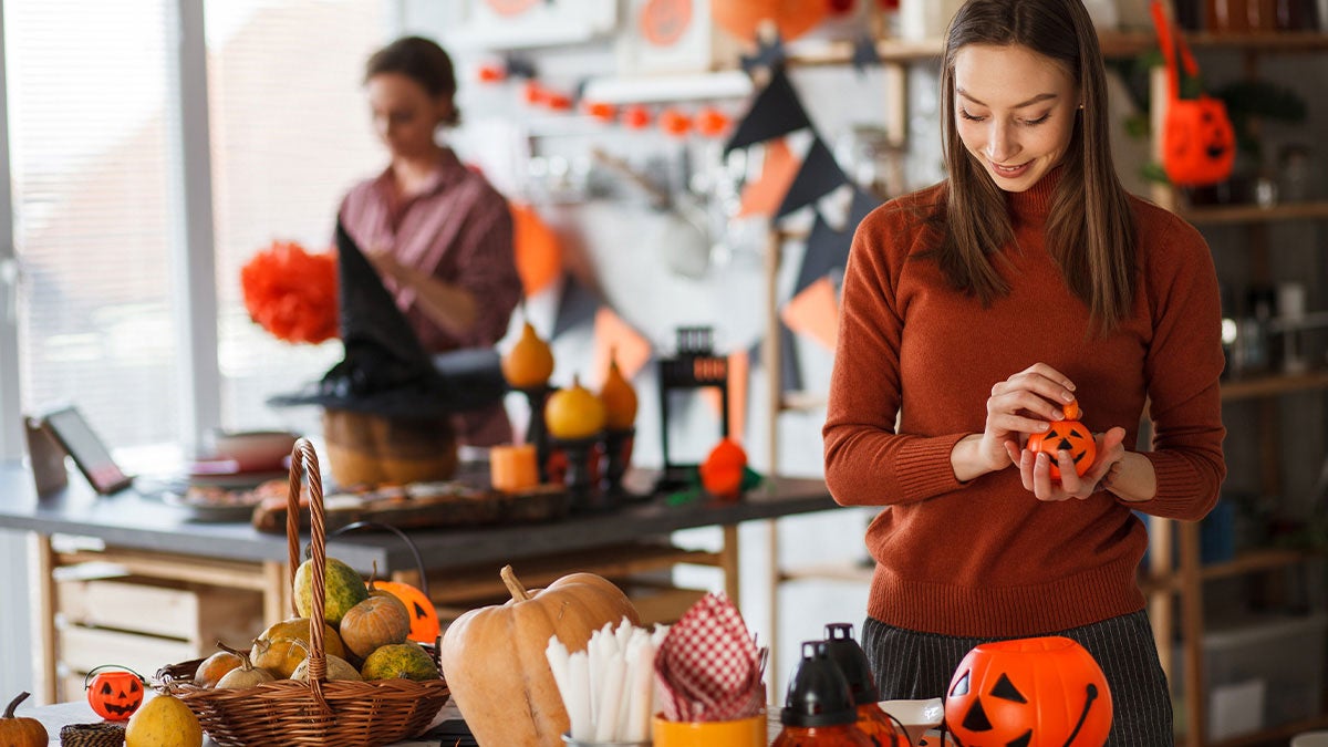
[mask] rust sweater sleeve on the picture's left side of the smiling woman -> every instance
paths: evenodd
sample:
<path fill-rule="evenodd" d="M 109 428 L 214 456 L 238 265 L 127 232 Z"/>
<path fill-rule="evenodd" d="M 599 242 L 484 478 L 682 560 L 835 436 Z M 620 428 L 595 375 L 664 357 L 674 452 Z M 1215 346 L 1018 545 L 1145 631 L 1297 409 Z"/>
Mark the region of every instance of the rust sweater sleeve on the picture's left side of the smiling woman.
<path fill-rule="evenodd" d="M 891 205 L 854 234 L 845 268 L 839 335 L 830 375 L 825 473 L 841 505 L 923 501 L 963 486 L 950 453 L 964 433 L 898 433 L 903 393 L 899 346 L 903 310 L 898 276 L 912 229 Z"/>

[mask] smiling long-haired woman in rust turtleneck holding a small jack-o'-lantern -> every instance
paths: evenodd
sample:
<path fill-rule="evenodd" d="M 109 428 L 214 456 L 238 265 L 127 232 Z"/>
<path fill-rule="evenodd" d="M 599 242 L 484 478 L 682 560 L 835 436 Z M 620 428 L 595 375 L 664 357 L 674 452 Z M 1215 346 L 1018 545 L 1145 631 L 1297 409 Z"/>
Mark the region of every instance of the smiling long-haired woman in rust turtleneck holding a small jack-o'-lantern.
<path fill-rule="evenodd" d="M 1106 675 L 1108 743 L 1170 746 L 1133 512 L 1197 521 L 1226 475 L 1212 259 L 1122 189 L 1081 0 L 969 0 L 940 89 L 947 179 L 869 215 L 843 282 L 826 481 L 886 506 L 865 649 L 882 698 L 936 698 L 977 643 L 1065 635 Z M 1073 400 L 1097 457 L 1053 480 L 1024 445 Z"/>

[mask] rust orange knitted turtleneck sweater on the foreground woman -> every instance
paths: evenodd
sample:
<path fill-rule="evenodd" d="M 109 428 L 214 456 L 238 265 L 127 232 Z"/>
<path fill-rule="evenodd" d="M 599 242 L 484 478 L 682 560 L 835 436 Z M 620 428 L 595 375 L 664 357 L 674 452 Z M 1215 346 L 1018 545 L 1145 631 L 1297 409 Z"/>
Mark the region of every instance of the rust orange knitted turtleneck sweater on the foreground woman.
<path fill-rule="evenodd" d="M 943 187 L 892 201 L 858 227 L 823 431 L 826 481 L 842 505 L 887 506 L 867 529 L 876 560 L 867 613 L 887 625 L 1024 637 L 1138 611 L 1147 536 L 1130 509 L 1198 520 L 1218 498 L 1223 359 L 1207 245 L 1175 215 L 1131 199 L 1134 310 L 1105 338 L 1088 336 L 1088 307 L 1044 246 L 1058 177 L 1007 195 L 1017 246 L 997 266 L 1012 290 L 988 308 L 919 258 L 934 234 L 904 206 L 943 201 Z M 983 432 L 992 384 L 1036 362 L 1074 381 L 1089 428 L 1121 425 L 1126 444 L 1149 403 L 1157 497 L 1040 502 L 1013 465 L 955 479 L 951 449 Z"/>

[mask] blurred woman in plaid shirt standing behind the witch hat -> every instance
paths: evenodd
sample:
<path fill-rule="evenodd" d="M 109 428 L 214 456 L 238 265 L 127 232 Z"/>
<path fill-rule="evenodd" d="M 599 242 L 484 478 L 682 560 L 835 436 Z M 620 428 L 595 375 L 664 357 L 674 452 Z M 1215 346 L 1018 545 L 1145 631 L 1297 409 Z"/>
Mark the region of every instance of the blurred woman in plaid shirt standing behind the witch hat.
<path fill-rule="evenodd" d="M 364 86 L 388 167 L 356 185 L 339 218 L 430 354 L 490 348 L 521 299 L 507 201 L 437 140 L 459 122 L 452 58 L 428 39 L 369 57 Z M 465 444 L 511 440 L 502 403 L 453 419 Z"/>

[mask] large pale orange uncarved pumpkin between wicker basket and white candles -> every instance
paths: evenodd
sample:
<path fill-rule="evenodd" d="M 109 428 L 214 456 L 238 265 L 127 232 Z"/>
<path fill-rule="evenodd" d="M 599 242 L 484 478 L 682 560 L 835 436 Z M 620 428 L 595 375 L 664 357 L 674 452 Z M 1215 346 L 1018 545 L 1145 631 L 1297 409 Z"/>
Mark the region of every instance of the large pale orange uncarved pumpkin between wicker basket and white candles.
<path fill-rule="evenodd" d="M 511 601 L 470 610 L 448 626 L 438 649 L 442 671 L 481 744 L 555 744 L 570 728 L 544 649 L 556 635 L 584 650 L 606 623 L 640 623 L 612 582 L 592 573 L 564 576 L 543 590 L 522 586 L 511 566 L 499 573 Z"/>

